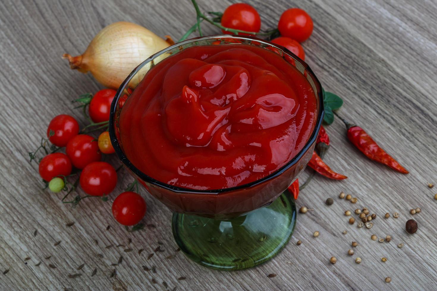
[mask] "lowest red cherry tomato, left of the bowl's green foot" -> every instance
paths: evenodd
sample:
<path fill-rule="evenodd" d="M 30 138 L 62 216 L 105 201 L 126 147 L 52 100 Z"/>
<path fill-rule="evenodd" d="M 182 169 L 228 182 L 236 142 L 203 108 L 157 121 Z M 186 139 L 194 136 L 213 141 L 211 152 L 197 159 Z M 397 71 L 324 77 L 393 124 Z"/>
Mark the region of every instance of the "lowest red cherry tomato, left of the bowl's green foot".
<path fill-rule="evenodd" d="M 112 203 L 112 215 L 122 225 L 135 225 L 145 214 L 146 201 L 135 192 L 123 192 Z"/>

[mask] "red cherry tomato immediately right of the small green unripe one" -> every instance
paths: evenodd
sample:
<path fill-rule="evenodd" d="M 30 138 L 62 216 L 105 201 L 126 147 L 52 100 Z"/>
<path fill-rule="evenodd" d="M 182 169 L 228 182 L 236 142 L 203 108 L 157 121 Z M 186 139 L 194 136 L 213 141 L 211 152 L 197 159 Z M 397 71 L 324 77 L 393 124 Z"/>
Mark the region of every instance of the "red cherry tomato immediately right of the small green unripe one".
<path fill-rule="evenodd" d="M 93 162 L 83 168 L 79 182 L 88 195 L 108 195 L 117 185 L 117 172 L 106 162 Z"/>

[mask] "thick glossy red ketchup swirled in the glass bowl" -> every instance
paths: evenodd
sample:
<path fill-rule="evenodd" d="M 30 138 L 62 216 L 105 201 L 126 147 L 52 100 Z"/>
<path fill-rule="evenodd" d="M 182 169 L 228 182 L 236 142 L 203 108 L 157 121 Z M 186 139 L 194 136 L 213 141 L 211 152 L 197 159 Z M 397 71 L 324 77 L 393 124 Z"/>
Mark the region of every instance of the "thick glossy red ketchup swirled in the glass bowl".
<path fill-rule="evenodd" d="M 316 111 L 309 82 L 273 51 L 194 46 L 149 70 L 123 105 L 120 139 L 135 167 L 158 181 L 229 188 L 295 157 Z"/>

